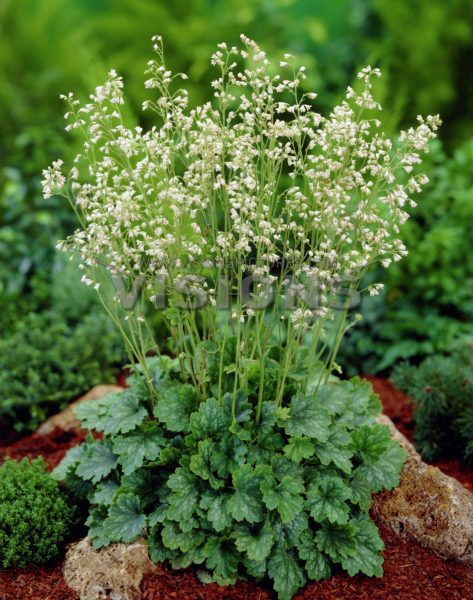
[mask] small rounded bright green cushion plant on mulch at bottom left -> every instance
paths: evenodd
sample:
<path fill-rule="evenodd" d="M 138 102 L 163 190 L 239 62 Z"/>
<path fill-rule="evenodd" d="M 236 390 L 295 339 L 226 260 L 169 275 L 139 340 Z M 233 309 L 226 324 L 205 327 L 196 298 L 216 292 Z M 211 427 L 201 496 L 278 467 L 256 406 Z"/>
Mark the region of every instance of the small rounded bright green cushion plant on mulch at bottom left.
<path fill-rule="evenodd" d="M 54 559 L 76 515 L 42 459 L 7 459 L 0 467 L 0 566 L 26 567 Z"/>

